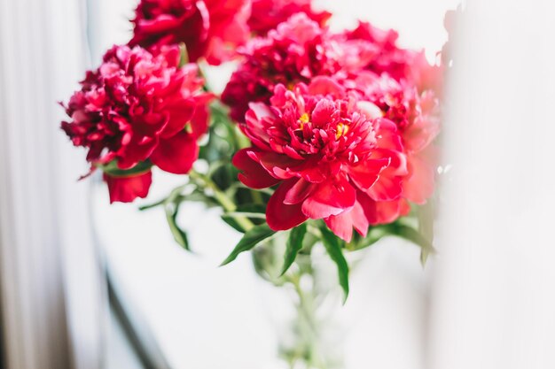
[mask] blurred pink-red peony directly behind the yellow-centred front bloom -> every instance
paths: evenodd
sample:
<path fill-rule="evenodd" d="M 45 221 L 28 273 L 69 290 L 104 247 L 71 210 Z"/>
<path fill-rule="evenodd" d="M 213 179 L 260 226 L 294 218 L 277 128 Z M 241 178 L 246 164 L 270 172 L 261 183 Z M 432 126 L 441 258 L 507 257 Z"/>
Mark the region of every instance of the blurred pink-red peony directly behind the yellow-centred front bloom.
<path fill-rule="evenodd" d="M 277 84 L 292 86 L 317 75 L 340 70 L 335 48 L 326 45 L 326 30 L 304 13 L 281 23 L 268 37 L 255 38 L 242 51 L 244 62 L 231 76 L 222 101 L 231 107 L 231 118 L 245 121 L 251 102 L 270 101 Z"/>

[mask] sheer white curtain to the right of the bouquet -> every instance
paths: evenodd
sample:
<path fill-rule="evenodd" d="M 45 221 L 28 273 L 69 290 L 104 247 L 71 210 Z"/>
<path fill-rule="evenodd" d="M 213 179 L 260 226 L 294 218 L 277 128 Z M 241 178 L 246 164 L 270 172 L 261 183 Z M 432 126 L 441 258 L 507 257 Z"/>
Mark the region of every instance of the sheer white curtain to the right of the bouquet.
<path fill-rule="evenodd" d="M 429 368 L 555 367 L 553 19 L 469 1 L 460 24 Z"/>

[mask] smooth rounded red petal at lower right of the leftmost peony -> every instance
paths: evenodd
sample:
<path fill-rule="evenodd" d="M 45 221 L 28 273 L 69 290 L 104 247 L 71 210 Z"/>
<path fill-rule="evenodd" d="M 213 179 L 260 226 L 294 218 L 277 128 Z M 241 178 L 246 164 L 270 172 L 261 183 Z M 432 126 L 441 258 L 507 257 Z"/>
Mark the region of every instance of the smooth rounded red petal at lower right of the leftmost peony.
<path fill-rule="evenodd" d="M 181 131 L 168 140 L 160 140 L 158 147 L 152 152 L 151 160 L 165 172 L 186 174 L 198 157 L 197 141 L 192 135 Z"/>

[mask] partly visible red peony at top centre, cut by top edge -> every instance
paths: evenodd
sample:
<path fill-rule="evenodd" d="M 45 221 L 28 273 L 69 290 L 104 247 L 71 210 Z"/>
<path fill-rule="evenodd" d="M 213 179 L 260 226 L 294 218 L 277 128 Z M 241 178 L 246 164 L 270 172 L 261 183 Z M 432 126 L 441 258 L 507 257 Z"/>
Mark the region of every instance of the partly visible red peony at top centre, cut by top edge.
<path fill-rule="evenodd" d="M 311 0 L 253 0 L 248 27 L 256 35 L 266 35 L 296 13 L 306 14 L 320 26 L 332 16 L 330 12 L 315 12 Z"/>

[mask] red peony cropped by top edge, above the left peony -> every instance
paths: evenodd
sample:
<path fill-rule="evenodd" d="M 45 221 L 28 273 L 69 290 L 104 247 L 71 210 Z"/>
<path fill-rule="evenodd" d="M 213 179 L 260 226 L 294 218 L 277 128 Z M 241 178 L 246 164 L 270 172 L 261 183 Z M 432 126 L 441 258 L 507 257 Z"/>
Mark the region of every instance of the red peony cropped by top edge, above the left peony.
<path fill-rule="evenodd" d="M 189 60 L 212 65 L 235 56 L 249 30 L 249 0 L 141 0 L 130 45 L 145 48 L 184 42 Z"/>

